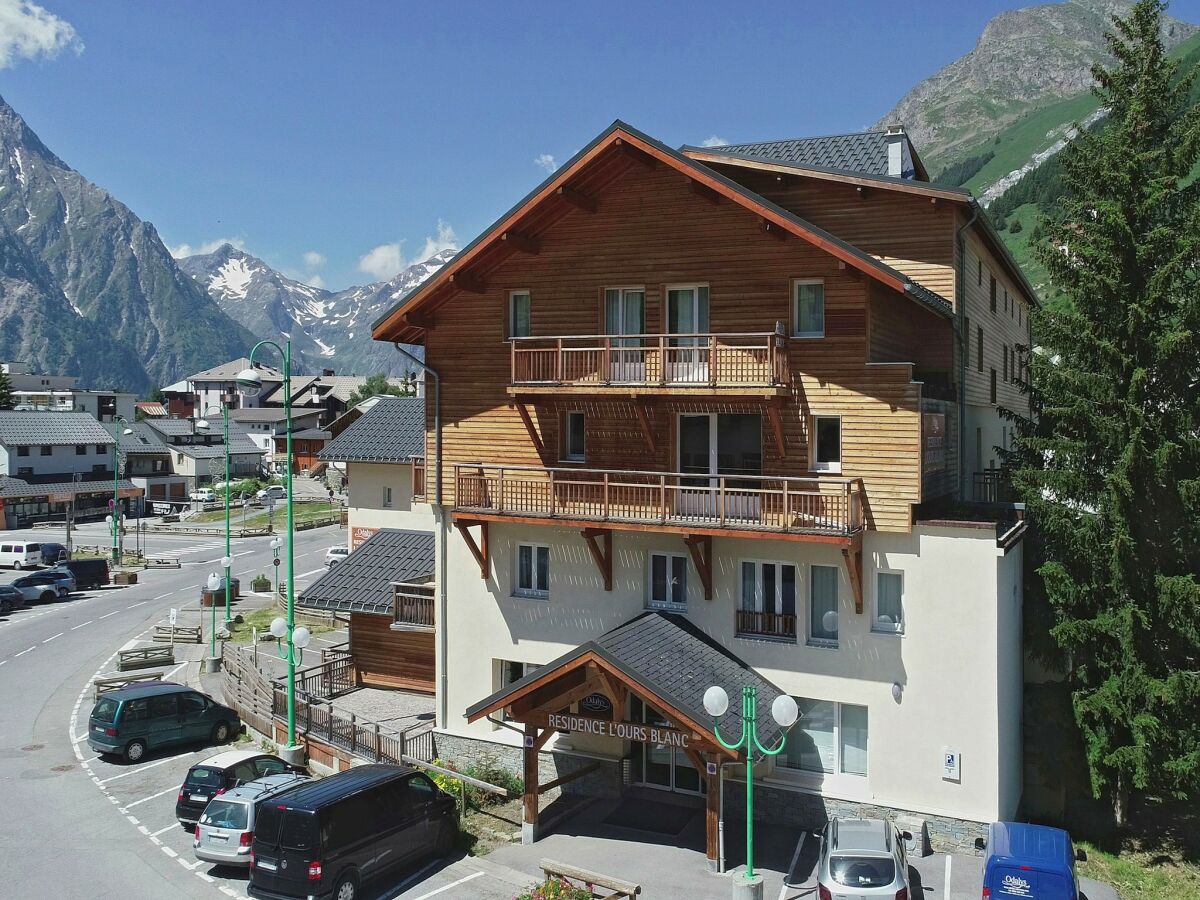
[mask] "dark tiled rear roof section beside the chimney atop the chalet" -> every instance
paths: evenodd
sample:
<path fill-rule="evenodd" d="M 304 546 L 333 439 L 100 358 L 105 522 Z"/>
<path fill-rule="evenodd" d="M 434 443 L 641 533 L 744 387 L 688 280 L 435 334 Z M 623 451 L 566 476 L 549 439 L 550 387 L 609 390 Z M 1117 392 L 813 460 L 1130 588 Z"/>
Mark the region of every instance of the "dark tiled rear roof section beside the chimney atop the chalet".
<path fill-rule="evenodd" d="M 928 181 L 925 167 L 913 150 L 908 136 L 901 137 L 901 178 Z M 859 131 L 853 134 L 826 134 L 816 138 L 787 140 L 756 140 L 749 144 L 721 144 L 703 148 L 714 154 L 752 156 L 775 162 L 811 166 L 818 169 L 862 172 L 868 175 L 888 174 L 888 132 Z M 700 148 L 684 148 L 685 150 Z"/>

